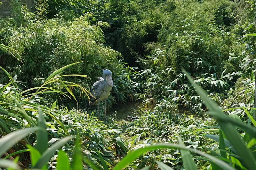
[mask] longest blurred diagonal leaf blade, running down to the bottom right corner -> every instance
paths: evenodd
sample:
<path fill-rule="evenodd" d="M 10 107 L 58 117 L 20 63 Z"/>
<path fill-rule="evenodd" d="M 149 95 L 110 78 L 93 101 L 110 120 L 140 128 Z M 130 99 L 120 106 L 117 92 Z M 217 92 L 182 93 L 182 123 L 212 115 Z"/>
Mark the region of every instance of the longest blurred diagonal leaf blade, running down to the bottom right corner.
<path fill-rule="evenodd" d="M 187 72 L 183 70 L 183 72 L 186 74 Z M 205 105 L 209 108 L 210 114 L 214 115 L 216 120 L 219 122 L 221 128 L 223 129 L 226 137 L 228 140 L 232 143 L 232 145 L 235 147 L 238 154 L 242 157 L 244 164 L 247 166 L 248 169 L 254 170 L 256 167 L 256 164 L 254 162 L 255 158 L 252 154 L 252 152 L 247 149 L 244 142 L 242 141 L 241 137 L 238 135 L 236 129 L 234 126 L 237 124 L 242 125 L 243 127 L 246 127 L 244 130 L 249 130 L 250 126 L 244 124 L 243 122 L 239 122 L 237 120 L 234 120 L 234 122 L 227 122 L 225 119 L 222 119 L 225 117 L 223 112 L 220 110 L 216 102 L 209 99 L 207 97 L 207 94 L 202 90 L 201 87 L 199 87 L 190 76 L 187 76 L 189 82 L 194 86 L 194 88 L 197 90 L 197 93 L 201 96 L 201 98 L 204 100 Z M 249 132 L 250 133 L 250 132 Z M 250 133 L 251 135 L 255 135 L 253 133 Z"/>

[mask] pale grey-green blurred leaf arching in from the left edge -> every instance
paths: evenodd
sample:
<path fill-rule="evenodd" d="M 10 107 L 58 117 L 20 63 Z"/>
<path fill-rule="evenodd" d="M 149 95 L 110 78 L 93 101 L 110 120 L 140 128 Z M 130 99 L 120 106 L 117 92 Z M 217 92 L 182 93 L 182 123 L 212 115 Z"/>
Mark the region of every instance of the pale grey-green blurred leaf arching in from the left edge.
<path fill-rule="evenodd" d="M 4 137 L 0 138 L 0 156 L 4 154 L 4 152 L 8 151 L 10 147 L 15 145 L 17 142 L 19 142 L 21 139 L 29 135 L 30 133 L 35 132 L 37 127 L 34 128 L 26 128 L 17 130 L 15 132 L 9 133 L 8 135 L 5 135 Z"/>

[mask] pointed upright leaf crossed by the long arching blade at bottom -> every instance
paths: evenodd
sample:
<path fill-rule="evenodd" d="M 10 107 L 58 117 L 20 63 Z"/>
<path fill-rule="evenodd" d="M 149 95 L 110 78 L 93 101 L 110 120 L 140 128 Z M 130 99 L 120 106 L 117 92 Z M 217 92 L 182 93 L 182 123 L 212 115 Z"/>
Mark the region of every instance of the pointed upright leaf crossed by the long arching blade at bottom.
<path fill-rule="evenodd" d="M 181 146 L 185 147 L 185 144 L 183 144 L 180 137 L 178 137 L 178 141 Z M 189 151 L 180 149 L 180 154 L 181 154 L 182 162 L 183 162 L 186 170 L 198 170 L 196 167 L 196 163 L 194 162 Z"/>

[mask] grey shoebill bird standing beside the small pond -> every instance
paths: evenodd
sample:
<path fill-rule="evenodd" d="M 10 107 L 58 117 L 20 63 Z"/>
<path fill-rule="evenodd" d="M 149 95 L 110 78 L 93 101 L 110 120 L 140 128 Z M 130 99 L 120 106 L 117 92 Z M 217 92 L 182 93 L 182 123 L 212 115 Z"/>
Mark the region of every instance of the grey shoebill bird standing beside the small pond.
<path fill-rule="evenodd" d="M 112 80 L 112 73 L 110 70 L 103 70 L 102 77 L 98 78 L 91 88 L 90 101 L 91 105 L 98 105 L 98 116 L 100 116 L 100 107 L 99 104 L 101 101 L 105 100 L 104 104 L 104 111 L 105 111 L 105 118 L 106 118 L 106 101 L 108 96 L 110 95 L 111 89 L 113 87 L 113 80 Z"/>

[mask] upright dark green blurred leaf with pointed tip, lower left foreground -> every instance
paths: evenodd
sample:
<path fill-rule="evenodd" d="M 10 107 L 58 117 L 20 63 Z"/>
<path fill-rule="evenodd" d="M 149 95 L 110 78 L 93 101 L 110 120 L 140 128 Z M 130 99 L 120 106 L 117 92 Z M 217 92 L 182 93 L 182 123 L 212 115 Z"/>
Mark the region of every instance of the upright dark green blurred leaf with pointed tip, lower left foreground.
<path fill-rule="evenodd" d="M 39 114 L 38 127 L 40 127 L 40 129 L 37 130 L 37 132 L 36 132 L 37 143 L 35 145 L 35 148 L 42 155 L 44 153 L 44 151 L 47 150 L 47 147 L 48 147 L 48 136 L 47 136 L 46 126 L 45 126 L 45 122 L 44 122 L 44 116 L 42 114 L 41 108 L 38 106 L 37 110 L 38 110 L 38 114 Z"/>

